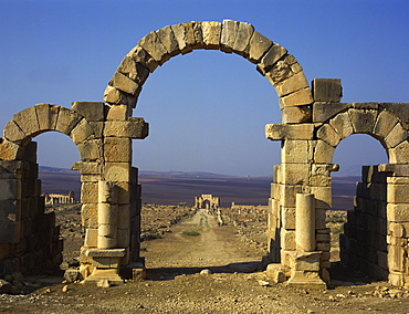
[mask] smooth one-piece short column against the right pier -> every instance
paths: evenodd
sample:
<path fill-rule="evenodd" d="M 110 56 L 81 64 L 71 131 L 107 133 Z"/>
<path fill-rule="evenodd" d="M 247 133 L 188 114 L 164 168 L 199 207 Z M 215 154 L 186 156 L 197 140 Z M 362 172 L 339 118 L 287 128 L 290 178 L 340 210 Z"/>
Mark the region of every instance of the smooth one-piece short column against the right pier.
<path fill-rule="evenodd" d="M 300 252 L 315 250 L 315 198 L 314 195 L 296 193 L 295 243 Z"/>

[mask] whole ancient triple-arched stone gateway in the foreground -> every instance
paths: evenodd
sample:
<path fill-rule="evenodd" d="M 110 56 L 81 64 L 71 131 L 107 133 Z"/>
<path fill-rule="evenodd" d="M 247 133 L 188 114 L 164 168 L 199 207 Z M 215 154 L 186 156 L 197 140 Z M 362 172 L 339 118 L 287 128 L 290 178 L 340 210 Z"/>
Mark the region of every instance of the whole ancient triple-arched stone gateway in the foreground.
<path fill-rule="evenodd" d="M 81 160 L 85 241 L 78 278 L 122 282 L 144 265 L 139 257 L 140 186 L 132 167 L 132 139 L 148 124 L 132 117 L 149 74 L 177 54 L 197 49 L 235 53 L 255 64 L 275 87 L 282 123 L 265 135 L 281 140 L 282 160 L 271 186 L 268 272 L 295 286 L 325 287 L 329 281 L 331 172 L 338 144 L 353 134 L 379 140 L 389 164 L 364 168 L 354 211 L 342 237 L 342 261 L 409 285 L 409 104 L 342 103 L 337 78 L 310 86 L 287 50 L 244 22 L 187 22 L 143 38 L 120 62 L 103 102 L 72 108 L 38 104 L 13 116 L 0 139 L 0 273 L 40 272 L 61 262 L 62 243 L 53 212 L 44 213 L 38 179 L 36 135 L 56 130 L 72 138 Z"/>

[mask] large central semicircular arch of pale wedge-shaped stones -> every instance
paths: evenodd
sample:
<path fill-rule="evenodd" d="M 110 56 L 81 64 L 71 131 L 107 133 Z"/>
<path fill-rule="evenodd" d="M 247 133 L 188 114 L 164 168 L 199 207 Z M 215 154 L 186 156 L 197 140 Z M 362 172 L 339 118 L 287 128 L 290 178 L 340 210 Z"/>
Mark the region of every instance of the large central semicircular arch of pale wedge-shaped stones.
<path fill-rule="evenodd" d="M 237 53 L 256 64 L 256 70 L 275 86 L 283 121 L 311 121 L 313 97 L 296 59 L 250 23 L 232 20 L 187 22 L 148 33 L 125 55 L 105 90 L 104 101 L 111 108 L 126 106 L 130 116 L 149 74 L 170 57 L 197 49 Z"/>

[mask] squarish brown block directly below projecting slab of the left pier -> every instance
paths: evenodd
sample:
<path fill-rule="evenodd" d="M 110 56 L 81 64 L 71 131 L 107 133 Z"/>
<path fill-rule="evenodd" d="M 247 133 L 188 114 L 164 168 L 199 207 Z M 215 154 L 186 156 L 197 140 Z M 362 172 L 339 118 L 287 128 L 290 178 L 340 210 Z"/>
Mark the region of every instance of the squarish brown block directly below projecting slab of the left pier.
<path fill-rule="evenodd" d="M 104 160 L 105 163 L 129 163 L 132 159 L 132 139 L 105 137 Z"/>

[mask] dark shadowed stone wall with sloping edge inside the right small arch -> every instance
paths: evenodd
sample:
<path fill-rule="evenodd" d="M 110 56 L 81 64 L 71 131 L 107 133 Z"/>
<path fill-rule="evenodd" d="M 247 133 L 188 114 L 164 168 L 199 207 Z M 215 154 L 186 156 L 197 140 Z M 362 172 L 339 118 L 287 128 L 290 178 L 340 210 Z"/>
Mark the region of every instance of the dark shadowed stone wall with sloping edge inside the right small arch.
<path fill-rule="evenodd" d="M 340 260 L 376 280 L 388 279 L 387 175 L 377 166 L 363 167 L 354 210 L 340 234 Z"/>

